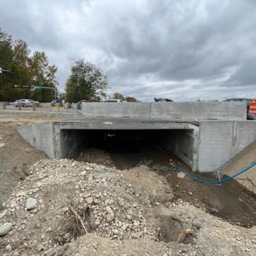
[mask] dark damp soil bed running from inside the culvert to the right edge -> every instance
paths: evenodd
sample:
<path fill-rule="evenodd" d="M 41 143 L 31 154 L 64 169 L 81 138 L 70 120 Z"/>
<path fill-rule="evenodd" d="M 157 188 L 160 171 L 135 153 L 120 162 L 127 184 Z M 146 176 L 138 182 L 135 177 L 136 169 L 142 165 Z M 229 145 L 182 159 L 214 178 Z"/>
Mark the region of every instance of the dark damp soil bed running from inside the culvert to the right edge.
<path fill-rule="evenodd" d="M 245 227 L 256 225 L 256 197 L 238 181 L 233 180 L 221 185 L 209 185 L 197 183 L 186 176 L 180 178 L 177 172 L 162 170 L 162 167 L 168 166 L 183 168 L 187 172 L 191 172 L 189 166 L 181 162 L 177 156 L 165 152 L 158 146 L 132 145 L 132 149 L 128 151 L 129 145 L 126 146 L 126 144 L 121 143 L 121 146 L 119 144 L 117 148 L 113 148 L 113 144 L 111 144 L 109 148 L 107 144 L 101 144 L 98 148 L 82 149 L 81 152 L 77 152 L 77 158 L 75 159 L 84 162 L 101 162 L 124 171 L 137 166 L 140 161 L 142 164 L 156 166 L 154 170 L 166 177 L 170 187 L 172 187 L 174 201 L 177 199 L 187 201 L 205 212 L 236 225 Z M 192 174 L 203 180 L 218 179 L 212 174 Z M 145 185 L 144 187 L 149 186 Z M 150 189 L 154 189 L 154 185 Z"/>

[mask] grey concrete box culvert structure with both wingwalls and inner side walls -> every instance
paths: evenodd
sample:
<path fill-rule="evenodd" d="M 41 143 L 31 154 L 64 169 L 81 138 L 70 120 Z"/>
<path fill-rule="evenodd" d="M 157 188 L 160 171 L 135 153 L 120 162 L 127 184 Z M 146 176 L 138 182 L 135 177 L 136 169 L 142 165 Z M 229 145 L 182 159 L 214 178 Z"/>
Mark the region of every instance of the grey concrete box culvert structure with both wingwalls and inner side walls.
<path fill-rule="evenodd" d="M 256 140 L 256 121 L 86 119 L 47 122 L 17 130 L 49 158 L 67 158 L 92 131 L 160 131 L 162 146 L 193 171 L 212 172 Z"/>

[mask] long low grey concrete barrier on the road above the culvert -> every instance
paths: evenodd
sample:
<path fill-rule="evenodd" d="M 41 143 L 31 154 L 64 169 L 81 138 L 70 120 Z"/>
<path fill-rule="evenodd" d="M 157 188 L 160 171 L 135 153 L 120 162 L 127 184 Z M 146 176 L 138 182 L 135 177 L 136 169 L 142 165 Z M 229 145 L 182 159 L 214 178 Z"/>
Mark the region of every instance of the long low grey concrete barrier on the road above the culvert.
<path fill-rule="evenodd" d="M 84 103 L 86 117 L 139 119 L 246 120 L 246 102 L 94 102 Z"/>

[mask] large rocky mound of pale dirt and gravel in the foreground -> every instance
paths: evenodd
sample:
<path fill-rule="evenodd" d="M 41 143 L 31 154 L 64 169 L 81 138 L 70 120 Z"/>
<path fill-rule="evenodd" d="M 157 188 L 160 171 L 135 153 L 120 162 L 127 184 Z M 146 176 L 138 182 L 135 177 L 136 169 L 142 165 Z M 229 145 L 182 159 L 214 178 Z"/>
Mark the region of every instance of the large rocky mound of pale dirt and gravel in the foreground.
<path fill-rule="evenodd" d="M 28 172 L 0 212 L 0 255 L 255 255 L 255 227 L 172 201 L 146 167 L 55 159 Z"/>

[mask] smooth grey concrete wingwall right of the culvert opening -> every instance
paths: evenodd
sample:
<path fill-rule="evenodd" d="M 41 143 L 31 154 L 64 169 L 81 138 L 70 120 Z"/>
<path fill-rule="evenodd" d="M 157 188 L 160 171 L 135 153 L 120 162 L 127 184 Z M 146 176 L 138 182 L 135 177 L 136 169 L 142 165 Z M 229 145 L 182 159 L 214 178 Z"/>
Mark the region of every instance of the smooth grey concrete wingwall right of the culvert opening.
<path fill-rule="evenodd" d="M 256 121 L 200 122 L 197 170 L 212 172 L 220 168 L 253 141 Z"/>

